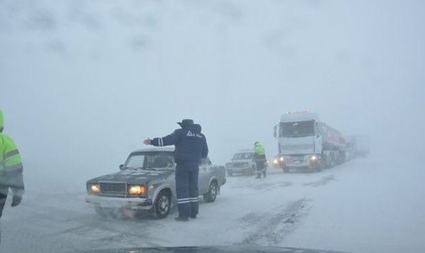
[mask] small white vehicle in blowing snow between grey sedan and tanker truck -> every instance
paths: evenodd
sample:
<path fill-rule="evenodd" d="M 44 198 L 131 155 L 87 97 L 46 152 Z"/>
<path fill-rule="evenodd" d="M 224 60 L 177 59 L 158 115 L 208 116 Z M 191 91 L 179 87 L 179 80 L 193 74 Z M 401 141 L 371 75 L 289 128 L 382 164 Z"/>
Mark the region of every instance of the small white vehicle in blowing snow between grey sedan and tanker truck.
<path fill-rule="evenodd" d="M 256 166 L 254 150 L 243 149 L 235 152 L 232 161 L 226 163 L 226 172 L 228 176 L 232 176 L 234 173 L 254 175 Z"/>

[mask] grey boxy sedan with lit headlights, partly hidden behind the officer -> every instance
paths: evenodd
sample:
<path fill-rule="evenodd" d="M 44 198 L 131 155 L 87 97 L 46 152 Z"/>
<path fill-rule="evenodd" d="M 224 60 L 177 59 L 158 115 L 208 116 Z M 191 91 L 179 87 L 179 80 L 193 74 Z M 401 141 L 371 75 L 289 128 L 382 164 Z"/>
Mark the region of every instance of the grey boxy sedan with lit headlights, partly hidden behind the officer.
<path fill-rule="evenodd" d="M 151 211 L 154 217 L 167 217 L 175 197 L 174 148 L 135 150 L 120 171 L 86 183 L 86 202 L 104 217 L 134 217 Z M 212 165 L 208 157 L 199 163 L 199 195 L 214 202 L 221 185 L 226 183 L 223 166 Z M 131 214 L 131 215 L 129 215 Z"/>

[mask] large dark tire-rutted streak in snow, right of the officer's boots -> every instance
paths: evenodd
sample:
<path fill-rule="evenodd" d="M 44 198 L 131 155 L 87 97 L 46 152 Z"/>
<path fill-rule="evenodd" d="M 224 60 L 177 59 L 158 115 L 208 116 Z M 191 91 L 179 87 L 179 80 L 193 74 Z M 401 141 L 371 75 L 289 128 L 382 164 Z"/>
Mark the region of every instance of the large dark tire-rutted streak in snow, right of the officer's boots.
<path fill-rule="evenodd" d="M 291 234 L 311 208 L 308 200 L 300 199 L 274 209 L 276 212 L 249 213 L 239 219 L 245 227 L 255 228 L 245 235 L 241 245 L 279 245 Z"/>

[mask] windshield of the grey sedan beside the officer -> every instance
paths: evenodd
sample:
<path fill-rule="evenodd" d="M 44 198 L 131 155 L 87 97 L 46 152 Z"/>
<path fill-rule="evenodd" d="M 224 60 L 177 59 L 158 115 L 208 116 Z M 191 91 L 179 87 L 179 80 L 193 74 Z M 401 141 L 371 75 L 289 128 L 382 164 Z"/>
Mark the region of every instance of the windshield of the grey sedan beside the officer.
<path fill-rule="evenodd" d="M 125 168 L 173 168 L 172 152 L 139 152 L 133 153 L 125 161 Z"/>

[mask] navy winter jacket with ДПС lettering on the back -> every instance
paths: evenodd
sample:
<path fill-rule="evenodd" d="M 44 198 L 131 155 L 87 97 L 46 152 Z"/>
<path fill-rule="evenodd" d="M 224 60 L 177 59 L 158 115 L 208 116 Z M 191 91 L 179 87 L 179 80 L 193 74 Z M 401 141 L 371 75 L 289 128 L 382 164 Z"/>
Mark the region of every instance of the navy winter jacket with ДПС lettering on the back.
<path fill-rule="evenodd" d="M 183 124 L 182 129 L 176 129 L 171 135 L 154 138 L 154 146 L 175 146 L 174 160 L 177 164 L 199 163 L 208 155 L 208 145 L 205 135 L 201 133 L 199 124 Z"/>

